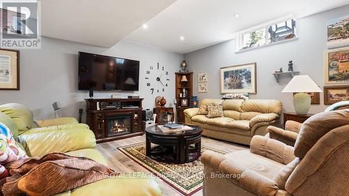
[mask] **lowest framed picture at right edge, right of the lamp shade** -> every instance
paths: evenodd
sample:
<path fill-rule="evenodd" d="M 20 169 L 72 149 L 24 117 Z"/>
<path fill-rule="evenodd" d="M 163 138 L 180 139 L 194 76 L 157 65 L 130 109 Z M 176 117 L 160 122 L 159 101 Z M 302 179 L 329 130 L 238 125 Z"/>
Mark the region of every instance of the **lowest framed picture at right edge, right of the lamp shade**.
<path fill-rule="evenodd" d="M 331 105 L 349 100 L 349 85 L 324 86 L 324 103 Z"/>

